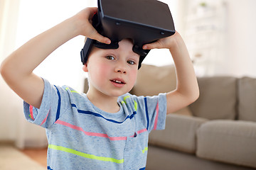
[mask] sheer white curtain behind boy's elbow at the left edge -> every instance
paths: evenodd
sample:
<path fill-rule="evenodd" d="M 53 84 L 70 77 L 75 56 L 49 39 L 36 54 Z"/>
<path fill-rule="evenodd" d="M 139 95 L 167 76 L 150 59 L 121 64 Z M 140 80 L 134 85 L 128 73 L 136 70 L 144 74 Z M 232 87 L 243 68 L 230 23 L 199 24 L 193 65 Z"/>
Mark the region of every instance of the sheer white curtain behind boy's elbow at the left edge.
<path fill-rule="evenodd" d="M 16 49 L 19 0 L 0 1 L 0 62 Z M 0 140 L 17 147 L 46 146 L 43 129 L 31 127 L 23 116 L 23 101 L 0 78 Z M 33 140 L 36 139 L 36 140 Z M 35 145 L 36 144 L 36 145 Z"/>

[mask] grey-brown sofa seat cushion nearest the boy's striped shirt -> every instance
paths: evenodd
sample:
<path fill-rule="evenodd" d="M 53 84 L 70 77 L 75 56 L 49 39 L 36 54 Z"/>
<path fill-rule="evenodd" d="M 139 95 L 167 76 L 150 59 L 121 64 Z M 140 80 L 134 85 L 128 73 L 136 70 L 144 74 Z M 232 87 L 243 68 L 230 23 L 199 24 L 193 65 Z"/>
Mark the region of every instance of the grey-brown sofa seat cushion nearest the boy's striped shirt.
<path fill-rule="evenodd" d="M 165 130 L 153 130 L 149 135 L 149 144 L 196 153 L 196 130 L 204 122 L 206 119 L 203 118 L 169 114 Z"/>

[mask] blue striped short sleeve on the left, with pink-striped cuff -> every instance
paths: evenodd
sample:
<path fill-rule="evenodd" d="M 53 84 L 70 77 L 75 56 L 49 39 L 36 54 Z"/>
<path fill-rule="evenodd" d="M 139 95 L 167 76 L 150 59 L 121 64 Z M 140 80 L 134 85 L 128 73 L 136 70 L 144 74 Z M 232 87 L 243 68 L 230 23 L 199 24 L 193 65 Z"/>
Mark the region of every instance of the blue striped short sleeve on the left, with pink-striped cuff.
<path fill-rule="evenodd" d="M 50 125 L 53 125 L 68 108 L 68 91 L 50 84 L 46 79 L 43 81 L 44 91 L 40 108 L 35 108 L 24 101 L 23 111 L 30 123 L 50 128 Z"/>

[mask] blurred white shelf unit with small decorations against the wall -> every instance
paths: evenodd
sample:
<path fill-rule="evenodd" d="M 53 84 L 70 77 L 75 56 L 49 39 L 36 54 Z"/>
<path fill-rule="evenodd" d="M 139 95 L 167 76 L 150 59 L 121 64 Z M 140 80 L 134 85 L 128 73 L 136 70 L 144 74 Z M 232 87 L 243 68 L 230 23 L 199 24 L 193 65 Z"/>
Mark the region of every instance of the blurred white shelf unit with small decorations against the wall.
<path fill-rule="evenodd" d="M 198 77 L 218 74 L 225 57 L 225 1 L 190 1 L 187 8 L 184 40 L 196 74 Z"/>

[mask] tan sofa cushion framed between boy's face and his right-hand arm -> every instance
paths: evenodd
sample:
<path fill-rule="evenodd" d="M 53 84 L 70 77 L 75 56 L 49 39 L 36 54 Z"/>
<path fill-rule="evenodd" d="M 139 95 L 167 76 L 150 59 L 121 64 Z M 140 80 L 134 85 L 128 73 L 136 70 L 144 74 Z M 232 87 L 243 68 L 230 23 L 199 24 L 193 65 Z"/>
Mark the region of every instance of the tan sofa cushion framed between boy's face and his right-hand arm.
<path fill-rule="evenodd" d="M 130 91 L 137 96 L 155 96 L 176 89 L 176 71 L 174 64 L 157 67 L 142 64 L 137 75 L 137 82 Z M 181 115 L 192 115 L 188 107 L 182 108 L 176 113 Z"/>

